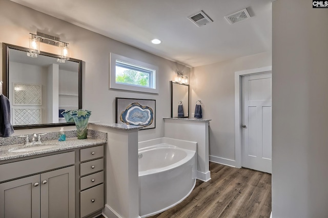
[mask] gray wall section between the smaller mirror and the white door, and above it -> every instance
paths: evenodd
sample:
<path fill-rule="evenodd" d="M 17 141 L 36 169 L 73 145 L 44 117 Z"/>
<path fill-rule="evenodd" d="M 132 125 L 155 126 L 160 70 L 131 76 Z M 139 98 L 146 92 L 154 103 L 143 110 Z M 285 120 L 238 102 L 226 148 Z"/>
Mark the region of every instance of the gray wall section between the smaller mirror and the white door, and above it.
<path fill-rule="evenodd" d="M 235 165 L 235 71 L 271 66 L 271 52 L 195 67 L 191 72 L 191 110 L 202 102 L 210 122 L 210 160 Z"/>

